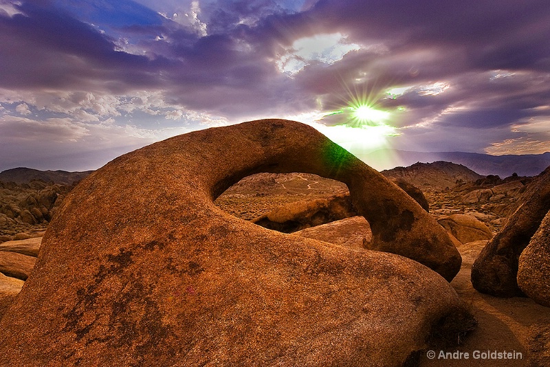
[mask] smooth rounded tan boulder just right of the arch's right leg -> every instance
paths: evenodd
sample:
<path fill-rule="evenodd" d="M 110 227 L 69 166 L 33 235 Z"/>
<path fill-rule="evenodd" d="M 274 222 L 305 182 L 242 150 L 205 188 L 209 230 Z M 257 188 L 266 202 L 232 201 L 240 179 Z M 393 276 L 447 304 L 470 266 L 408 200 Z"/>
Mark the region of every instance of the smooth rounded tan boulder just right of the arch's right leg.
<path fill-rule="evenodd" d="M 489 240 L 493 237 L 487 225 L 468 214 L 452 214 L 438 219 L 437 223 L 461 243 Z"/>

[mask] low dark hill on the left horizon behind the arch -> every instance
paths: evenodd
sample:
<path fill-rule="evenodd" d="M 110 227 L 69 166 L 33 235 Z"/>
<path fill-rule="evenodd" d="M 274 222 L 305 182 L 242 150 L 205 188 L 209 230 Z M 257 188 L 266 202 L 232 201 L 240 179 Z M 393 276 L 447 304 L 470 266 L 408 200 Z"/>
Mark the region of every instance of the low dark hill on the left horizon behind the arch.
<path fill-rule="evenodd" d="M 32 180 L 42 180 L 46 183 L 62 183 L 70 185 L 75 181 L 80 181 L 93 170 L 85 172 L 67 172 L 65 170 L 34 170 L 32 168 L 12 168 L 0 173 L 0 181 L 15 182 L 18 184 L 29 183 Z"/>

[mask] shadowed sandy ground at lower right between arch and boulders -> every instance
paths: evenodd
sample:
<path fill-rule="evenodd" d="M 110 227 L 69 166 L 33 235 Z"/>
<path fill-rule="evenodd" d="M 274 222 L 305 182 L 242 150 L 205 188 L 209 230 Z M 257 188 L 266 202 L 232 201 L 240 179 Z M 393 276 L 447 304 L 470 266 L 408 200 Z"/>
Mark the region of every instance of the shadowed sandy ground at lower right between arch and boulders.
<path fill-rule="evenodd" d="M 420 366 L 550 366 L 550 351 L 536 351 L 532 340 L 536 330 L 549 327 L 550 308 L 540 306 L 529 298 L 487 296 L 472 287 L 472 263 L 485 243 L 478 241 L 459 247 L 463 258 L 462 269 L 451 282 L 456 293 L 472 307 L 472 313 L 478 320 L 477 329 L 463 345 L 445 350 L 458 352 L 455 356 L 459 359 L 445 359 L 441 351 L 433 351 L 435 357 L 428 359 L 426 353 Z M 487 357 L 483 358 L 485 355 L 482 353 L 487 351 Z M 459 355 L 460 352 L 464 354 Z M 490 354 L 494 352 L 502 353 L 500 359 L 499 355 Z M 465 353 L 468 353 L 468 358 Z"/>

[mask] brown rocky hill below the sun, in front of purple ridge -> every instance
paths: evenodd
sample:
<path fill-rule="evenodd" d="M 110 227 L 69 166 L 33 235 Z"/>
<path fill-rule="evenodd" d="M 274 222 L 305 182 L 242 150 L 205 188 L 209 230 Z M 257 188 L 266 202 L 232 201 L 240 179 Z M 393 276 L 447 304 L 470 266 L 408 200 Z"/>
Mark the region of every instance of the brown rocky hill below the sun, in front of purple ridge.
<path fill-rule="evenodd" d="M 421 190 L 452 188 L 456 181 L 470 182 L 483 176 L 461 164 L 437 161 L 415 163 L 408 167 L 395 167 L 381 171 L 386 177 L 401 178 Z"/>

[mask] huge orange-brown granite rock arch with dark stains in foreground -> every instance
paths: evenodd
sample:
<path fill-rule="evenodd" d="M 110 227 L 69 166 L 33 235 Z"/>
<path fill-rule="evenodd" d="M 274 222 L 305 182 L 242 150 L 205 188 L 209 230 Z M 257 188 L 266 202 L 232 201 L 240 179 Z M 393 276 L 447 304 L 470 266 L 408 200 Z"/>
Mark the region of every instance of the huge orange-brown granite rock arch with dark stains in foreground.
<path fill-rule="evenodd" d="M 456 340 L 467 313 L 428 267 L 214 205 L 265 171 L 347 183 L 381 249 L 458 271 L 425 210 L 315 129 L 196 131 L 118 157 L 67 196 L 0 321 L 0 366 L 401 366 L 441 328 Z"/>

